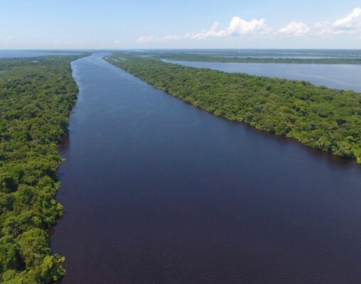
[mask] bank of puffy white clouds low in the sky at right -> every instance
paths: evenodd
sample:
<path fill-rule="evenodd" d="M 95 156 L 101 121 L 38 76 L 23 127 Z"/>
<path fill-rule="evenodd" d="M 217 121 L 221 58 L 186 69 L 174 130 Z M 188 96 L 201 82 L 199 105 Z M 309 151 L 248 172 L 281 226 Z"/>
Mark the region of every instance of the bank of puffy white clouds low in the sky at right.
<path fill-rule="evenodd" d="M 163 37 L 142 35 L 137 41 L 139 43 L 152 43 L 167 40 L 206 40 L 229 36 L 251 37 L 257 35 L 304 36 L 359 33 L 361 36 L 361 8 L 355 8 L 345 18 L 340 18 L 332 23 L 315 23 L 313 26 L 308 26 L 299 21 L 291 21 L 286 26 L 275 29 L 267 26 L 264 18 L 252 18 L 250 21 L 246 21 L 238 16 L 231 18 L 229 25 L 223 29 L 219 29 L 219 25 L 220 23 L 216 21 L 208 30 L 184 35 L 165 35 Z"/>

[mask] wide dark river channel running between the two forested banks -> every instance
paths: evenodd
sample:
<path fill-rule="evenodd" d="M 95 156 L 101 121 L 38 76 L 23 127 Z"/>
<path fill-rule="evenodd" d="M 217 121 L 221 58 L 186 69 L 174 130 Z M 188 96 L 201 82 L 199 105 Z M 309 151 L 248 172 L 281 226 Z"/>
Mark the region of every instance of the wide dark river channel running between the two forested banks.
<path fill-rule="evenodd" d="M 361 165 L 219 119 L 104 55 L 73 62 L 61 283 L 361 283 Z"/>

